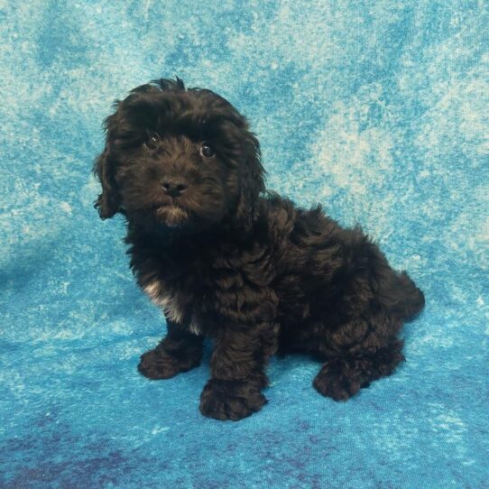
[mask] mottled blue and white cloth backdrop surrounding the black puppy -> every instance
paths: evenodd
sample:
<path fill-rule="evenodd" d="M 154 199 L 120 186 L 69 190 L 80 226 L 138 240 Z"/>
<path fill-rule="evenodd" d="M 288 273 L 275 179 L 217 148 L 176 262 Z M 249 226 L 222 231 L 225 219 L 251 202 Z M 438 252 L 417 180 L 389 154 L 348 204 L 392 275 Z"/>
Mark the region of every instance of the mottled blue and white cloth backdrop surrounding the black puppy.
<path fill-rule="evenodd" d="M 0 2 L 0 485 L 489 487 L 489 6 Z M 374 235 L 426 292 L 398 373 L 351 401 L 273 359 L 270 403 L 208 420 L 123 221 L 92 208 L 115 97 L 178 74 L 253 122 L 269 187 Z"/>

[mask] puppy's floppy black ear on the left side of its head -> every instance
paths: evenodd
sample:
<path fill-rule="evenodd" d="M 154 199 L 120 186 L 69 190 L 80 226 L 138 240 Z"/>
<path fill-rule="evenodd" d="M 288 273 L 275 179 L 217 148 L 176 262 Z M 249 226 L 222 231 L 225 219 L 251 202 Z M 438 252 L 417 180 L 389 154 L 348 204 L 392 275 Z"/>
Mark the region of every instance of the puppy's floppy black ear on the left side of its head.
<path fill-rule="evenodd" d="M 106 147 L 94 163 L 93 172 L 102 185 L 95 208 L 102 219 L 113 217 L 121 206 L 115 183 L 115 161 L 110 151 L 110 135 L 115 125 L 115 115 L 106 118 Z"/>

